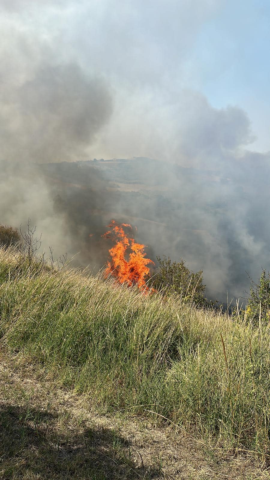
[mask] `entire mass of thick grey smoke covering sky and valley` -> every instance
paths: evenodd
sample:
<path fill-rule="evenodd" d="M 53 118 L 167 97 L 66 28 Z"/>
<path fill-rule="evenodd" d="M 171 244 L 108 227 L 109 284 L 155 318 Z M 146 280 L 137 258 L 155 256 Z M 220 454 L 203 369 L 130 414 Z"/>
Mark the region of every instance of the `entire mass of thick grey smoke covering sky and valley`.
<path fill-rule="evenodd" d="M 153 259 L 202 268 L 209 296 L 245 295 L 245 270 L 270 267 L 270 154 L 251 150 L 242 108 L 186 88 L 197 32 L 222 4 L 2 0 L 0 223 L 30 216 L 47 250 L 101 266 L 89 233 L 114 216 Z M 157 161 L 72 163 L 133 156 Z"/>

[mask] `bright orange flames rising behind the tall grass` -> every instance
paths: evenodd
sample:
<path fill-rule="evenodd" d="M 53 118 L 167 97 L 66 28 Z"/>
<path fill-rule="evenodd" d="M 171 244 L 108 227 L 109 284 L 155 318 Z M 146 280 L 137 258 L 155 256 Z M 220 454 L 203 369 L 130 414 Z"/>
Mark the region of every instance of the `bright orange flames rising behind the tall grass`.
<path fill-rule="evenodd" d="M 145 245 L 136 243 L 132 237 L 128 237 L 124 228 L 132 229 L 128 223 L 117 224 L 115 220 L 110 222 L 110 230 L 102 237 L 115 241 L 115 245 L 109 250 L 111 260 L 107 262 L 105 276 L 114 276 L 119 283 L 127 283 L 130 287 L 137 285 L 140 290 L 148 290 L 145 278 L 149 273 L 148 264 L 154 264 L 149 258 L 145 258 Z M 125 256 L 129 253 L 128 260 Z"/>

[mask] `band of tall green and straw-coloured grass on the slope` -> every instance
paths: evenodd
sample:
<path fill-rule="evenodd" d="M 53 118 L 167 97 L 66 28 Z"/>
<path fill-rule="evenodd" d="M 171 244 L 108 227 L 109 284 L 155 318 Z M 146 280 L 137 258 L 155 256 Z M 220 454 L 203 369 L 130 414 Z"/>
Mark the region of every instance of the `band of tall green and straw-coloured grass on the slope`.
<path fill-rule="evenodd" d="M 148 414 L 264 458 L 270 329 L 0 250 L 0 335 L 103 411 Z"/>

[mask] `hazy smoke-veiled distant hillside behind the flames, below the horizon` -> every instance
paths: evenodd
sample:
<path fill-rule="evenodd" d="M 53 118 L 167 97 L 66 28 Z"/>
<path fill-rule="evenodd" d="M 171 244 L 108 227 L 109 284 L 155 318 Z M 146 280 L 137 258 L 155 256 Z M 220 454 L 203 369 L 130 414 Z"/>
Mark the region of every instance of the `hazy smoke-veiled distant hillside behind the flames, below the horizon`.
<path fill-rule="evenodd" d="M 64 219 L 70 255 L 80 252 L 78 264 L 106 262 L 100 236 L 114 218 L 137 228 L 152 260 L 183 257 L 191 269 L 203 270 L 209 298 L 230 302 L 245 297 L 246 272 L 257 280 L 260 265 L 269 264 L 261 208 L 268 177 L 260 177 L 258 196 L 248 165 L 246 160 L 243 169 L 241 161 L 228 159 L 219 170 L 209 170 L 139 157 L 44 164 L 37 173 L 44 176 L 54 215 Z M 63 238 L 61 244 L 68 250 Z"/>

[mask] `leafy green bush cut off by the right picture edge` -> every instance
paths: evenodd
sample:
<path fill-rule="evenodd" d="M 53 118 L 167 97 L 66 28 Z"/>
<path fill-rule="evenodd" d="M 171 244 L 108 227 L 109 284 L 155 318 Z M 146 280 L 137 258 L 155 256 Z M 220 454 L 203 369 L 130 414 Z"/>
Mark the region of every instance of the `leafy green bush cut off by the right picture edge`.
<path fill-rule="evenodd" d="M 246 316 L 256 324 L 259 319 L 266 324 L 270 322 L 270 273 L 265 270 L 258 284 L 251 280 Z"/>

